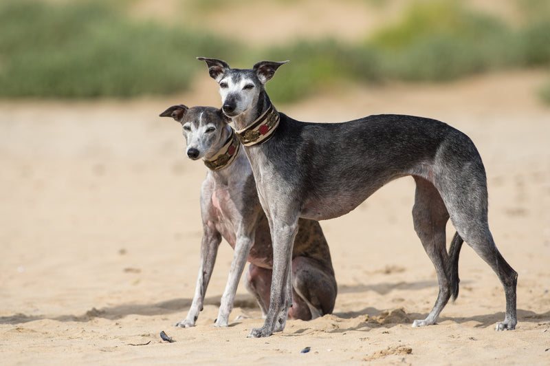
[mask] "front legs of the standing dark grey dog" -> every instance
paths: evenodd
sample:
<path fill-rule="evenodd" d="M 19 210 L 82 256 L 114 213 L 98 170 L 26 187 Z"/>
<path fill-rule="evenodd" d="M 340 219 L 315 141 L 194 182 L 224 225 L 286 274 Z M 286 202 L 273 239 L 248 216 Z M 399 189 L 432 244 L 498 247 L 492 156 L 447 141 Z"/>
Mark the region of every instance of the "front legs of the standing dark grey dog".
<path fill-rule="evenodd" d="M 249 337 L 260 338 L 282 332 L 285 328 L 288 311 L 292 305 L 291 259 L 294 237 L 298 230 L 298 217 L 291 224 L 273 222 L 271 228 L 273 242 L 273 275 L 270 294 L 270 309 L 261 328 L 250 331 Z M 288 295 L 290 292 L 290 296 Z"/>

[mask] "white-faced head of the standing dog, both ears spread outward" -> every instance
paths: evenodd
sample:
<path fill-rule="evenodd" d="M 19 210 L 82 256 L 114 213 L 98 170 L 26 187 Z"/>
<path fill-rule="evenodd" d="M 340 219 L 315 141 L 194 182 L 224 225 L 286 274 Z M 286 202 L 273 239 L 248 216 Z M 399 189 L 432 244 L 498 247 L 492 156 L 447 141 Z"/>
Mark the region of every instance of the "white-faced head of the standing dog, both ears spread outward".
<path fill-rule="evenodd" d="M 215 58 L 197 59 L 206 61 L 208 73 L 219 84 L 223 113 L 232 118 L 252 109 L 259 95 L 265 92 L 265 83 L 278 67 L 288 62 L 261 61 L 252 69 L 232 69 L 225 61 Z"/>

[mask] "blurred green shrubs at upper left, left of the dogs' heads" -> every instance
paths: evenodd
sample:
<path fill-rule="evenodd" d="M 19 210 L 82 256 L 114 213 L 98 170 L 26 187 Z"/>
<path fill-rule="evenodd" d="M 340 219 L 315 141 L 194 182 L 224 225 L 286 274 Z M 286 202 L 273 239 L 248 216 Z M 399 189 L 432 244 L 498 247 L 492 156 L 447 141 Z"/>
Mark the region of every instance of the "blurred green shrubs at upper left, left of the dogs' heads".
<path fill-rule="evenodd" d="M 188 88 L 195 56 L 232 55 L 233 44 L 126 19 L 102 1 L 0 7 L 0 96 L 40 98 L 166 95 Z"/>

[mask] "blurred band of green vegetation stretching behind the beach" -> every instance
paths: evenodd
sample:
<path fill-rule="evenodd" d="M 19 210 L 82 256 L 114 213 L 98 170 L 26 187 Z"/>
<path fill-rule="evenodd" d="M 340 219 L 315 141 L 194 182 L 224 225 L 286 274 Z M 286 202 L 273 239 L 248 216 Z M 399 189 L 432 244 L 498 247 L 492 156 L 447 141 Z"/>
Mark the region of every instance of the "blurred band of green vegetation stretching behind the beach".
<path fill-rule="evenodd" d="M 207 11 L 219 1 L 201 6 Z M 136 21 L 124 12 L 131 0 L 3 0 L 0 97 L 169 95 L 188 89 L 204 72 L 195 56 L 223 58 L 235 66 L 292 60 L 285 77 L 270 82 L 277 102 L 342 82 L 437 82 L 496 69 L 548 67 L 548 1 L 516 1 L 525 9 L 519 27 L 456 0 L 419 1 L 397 23 L 362 42 L 302 39 L 259 50 L 203 30 Z M 550 103 L 550 84 L 540 96 Z"/>

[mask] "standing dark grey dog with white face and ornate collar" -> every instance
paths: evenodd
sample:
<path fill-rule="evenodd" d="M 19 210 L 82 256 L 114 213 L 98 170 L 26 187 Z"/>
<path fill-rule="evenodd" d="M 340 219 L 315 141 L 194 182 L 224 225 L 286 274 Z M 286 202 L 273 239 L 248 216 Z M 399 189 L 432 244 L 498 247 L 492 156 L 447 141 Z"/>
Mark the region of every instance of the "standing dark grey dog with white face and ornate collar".
<path fill-rule="evenodd" d="M 250 336 L 270 336 L 285 327 L 292 304 L 289 265 L 298 218 L 331 219 L 349 213 L 377 189 L 412 175 L 417 184 L 412 218 L 432 260 L 439 296 L 426 319 L 435 323 L 458 293 L 458 255 L 463 241 L 496 272 L 503 284 L 506 314 L 496 330 L 516 327 L 518 274 L 500 255 L 487 224 L 487 178 L 470 138 L 437 120 L 380 115 L 343 123 L 299 122 L 278 113 L 265 92 L 283 63 L 262 61 L 231 69 L 206 61 L 219 83 L 223 112 L 232 118 L 252 164 L 260 202 L 270 222 L 274 264 L 270 310 Z M 445 225 L 456 234 L 449 259 Z"/>

